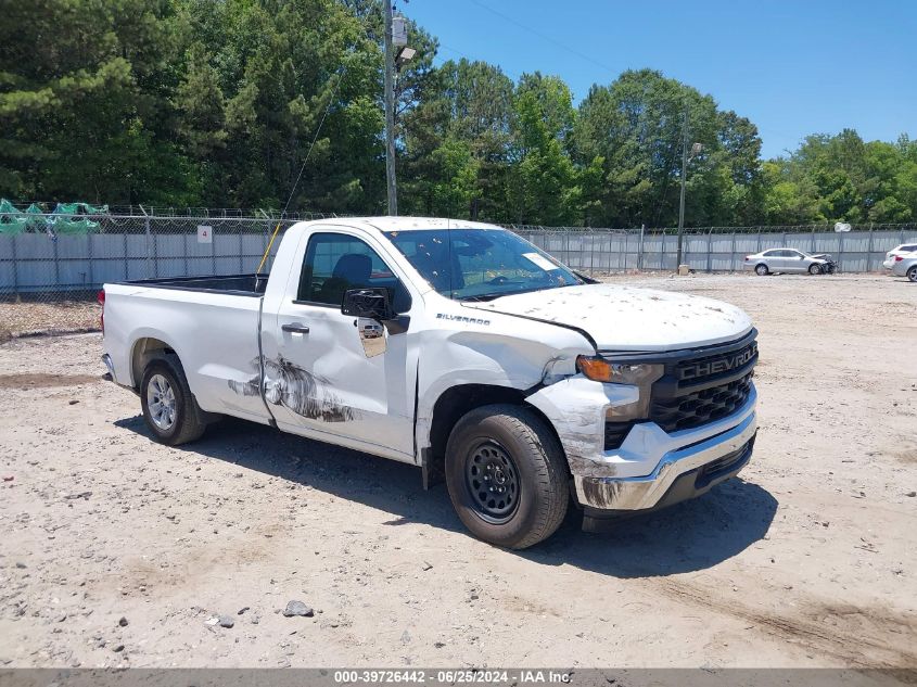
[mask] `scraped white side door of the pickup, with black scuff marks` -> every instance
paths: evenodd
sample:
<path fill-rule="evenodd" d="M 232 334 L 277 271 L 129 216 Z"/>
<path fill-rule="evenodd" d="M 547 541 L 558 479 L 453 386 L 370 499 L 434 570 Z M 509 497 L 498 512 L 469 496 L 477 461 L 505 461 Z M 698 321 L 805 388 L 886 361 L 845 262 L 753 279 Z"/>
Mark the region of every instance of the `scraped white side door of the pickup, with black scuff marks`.
<path fill-rule="evenodd" d="M 337 228 L 308 236 L 288 297 L 263 320 L 265 397 L 281 429 L 413 462 L 408 328 L 341 313 L 346 290 L 368 287 L 410 309 L 403 280 L 368 240 Z"/>

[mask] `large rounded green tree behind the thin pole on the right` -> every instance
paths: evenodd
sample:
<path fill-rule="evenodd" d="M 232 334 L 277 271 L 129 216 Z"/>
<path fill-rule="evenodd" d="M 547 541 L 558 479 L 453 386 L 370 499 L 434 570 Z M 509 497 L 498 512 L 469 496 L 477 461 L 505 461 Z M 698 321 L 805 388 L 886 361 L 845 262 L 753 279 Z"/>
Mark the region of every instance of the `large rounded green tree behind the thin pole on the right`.
<path fill-rule="evenodd" d="M 710 96 L 650 69 L 624 72 L 594 86 L 573 133 L 581 166 L 601 161 L 603 188 L 585 199 L 586 221 L 672 226 L 678 217 L 685 111 L 691 143 L 688 225 L 734 224 L 754 214 L 761 140 L 748 119 L 718 110 Z"/>

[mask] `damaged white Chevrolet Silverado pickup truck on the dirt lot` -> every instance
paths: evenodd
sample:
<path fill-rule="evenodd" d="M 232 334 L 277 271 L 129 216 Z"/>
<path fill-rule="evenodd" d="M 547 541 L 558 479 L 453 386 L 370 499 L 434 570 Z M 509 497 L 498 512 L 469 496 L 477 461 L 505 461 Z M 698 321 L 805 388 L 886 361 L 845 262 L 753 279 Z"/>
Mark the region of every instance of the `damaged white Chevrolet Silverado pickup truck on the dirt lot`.
<path fill-rule="evenodd" d="M 754 444 L 756 331 L 599 284 L 489 225 L 301 222 L 268 278 L 105 284 L 103 360 L 154 438 L 220 416 L 417 465 L 493 544 L 698 496 Z"/>

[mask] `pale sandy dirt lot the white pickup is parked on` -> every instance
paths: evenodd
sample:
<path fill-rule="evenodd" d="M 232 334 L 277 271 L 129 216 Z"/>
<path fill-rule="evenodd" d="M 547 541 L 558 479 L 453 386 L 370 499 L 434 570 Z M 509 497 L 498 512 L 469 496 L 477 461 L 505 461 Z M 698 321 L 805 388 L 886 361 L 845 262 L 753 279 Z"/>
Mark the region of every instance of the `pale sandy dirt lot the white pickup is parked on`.
<path fill-rule="evenodd" d="M 524 552 L 407 466 L 239 421 L 152 443 L 98 334 L 3 344 L 0 665 L 917 666 L 917 288 L 638 281 L 753 315 L 753 461 Z"/>

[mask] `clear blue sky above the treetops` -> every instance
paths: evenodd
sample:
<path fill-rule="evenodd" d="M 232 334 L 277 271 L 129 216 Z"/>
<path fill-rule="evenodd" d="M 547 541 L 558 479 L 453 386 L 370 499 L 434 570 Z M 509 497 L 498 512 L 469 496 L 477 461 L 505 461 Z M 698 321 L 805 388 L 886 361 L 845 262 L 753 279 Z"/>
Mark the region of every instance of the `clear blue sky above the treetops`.
<path fill-rule="evenodd" d="M 917 138 L 917 0 L 396 0 L 437 62 L 562 77 L 574 101 L 650 67 L 757 125 L 762 155 L 810 133 Z"/>

